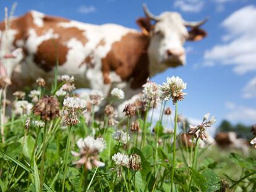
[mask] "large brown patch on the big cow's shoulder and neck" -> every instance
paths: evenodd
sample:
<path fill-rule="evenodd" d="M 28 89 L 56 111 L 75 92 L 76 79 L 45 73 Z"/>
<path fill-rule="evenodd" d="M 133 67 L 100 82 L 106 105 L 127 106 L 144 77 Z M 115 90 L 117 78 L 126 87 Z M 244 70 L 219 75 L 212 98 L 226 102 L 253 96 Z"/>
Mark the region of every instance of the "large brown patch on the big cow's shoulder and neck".
<path fill-rule="evenodd" d="M 122 80 L 130 81 L 130 88 L 141 88 L 149 76 L 148 43 L 147 36 L 134 31 L 114 43 L 102 59 L 105 84 L 111 82 L 109 73 L 114 70 Z"/>

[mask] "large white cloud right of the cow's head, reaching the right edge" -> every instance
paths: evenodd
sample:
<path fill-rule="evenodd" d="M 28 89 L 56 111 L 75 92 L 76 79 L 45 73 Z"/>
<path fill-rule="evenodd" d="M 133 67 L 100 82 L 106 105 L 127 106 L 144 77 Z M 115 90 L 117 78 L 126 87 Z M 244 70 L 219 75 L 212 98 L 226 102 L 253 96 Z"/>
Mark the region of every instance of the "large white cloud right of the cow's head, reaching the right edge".
<path fill-rule="evenodd" d="M 256 70 L 256 7 L 236 10 L 221 23 L 228 33 L 225 42 L 205 51 L 206 61 L 234 65 L 234 72 L 244 74 Z"/>

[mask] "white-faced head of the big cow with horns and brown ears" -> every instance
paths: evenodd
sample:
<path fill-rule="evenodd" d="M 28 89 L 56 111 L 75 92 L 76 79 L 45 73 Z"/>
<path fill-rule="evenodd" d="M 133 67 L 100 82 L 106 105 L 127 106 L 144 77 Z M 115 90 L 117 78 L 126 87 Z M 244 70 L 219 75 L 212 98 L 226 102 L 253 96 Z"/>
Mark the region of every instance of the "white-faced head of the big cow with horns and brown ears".
<path fill-rule="evenodd" d="M 186 52 L 183 47 L 186 41 L 202 40 L 207 32 L 200 29 L 200 22 L 186 22 L 177 12 L 163 12 L 156 16 L 151 14 L 143 4 L 147 17 L 137 20 L 144 35 L 150 38 L 148 56 L 150 62 L 161 64 L 161 68 L 176 67 L 186 63 Z M 151 24 L 155 22 L 155 24 Z M 188 30 L 188 28 L 190 30 Z"/>

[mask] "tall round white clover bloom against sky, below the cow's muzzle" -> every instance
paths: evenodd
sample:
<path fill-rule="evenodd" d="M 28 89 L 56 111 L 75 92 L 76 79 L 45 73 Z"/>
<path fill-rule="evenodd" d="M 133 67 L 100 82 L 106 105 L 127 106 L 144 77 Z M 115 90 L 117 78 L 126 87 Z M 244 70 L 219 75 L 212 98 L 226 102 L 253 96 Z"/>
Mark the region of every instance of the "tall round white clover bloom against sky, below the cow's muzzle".
<path fill-rule="evenodd" d="M 182 101 L 184 99 L 184 95 L 186 95 L 182 90 L 187 88 L 187 83 L 184 83 L 181 78 L 174 76 L 171 78 L 167 77 L 166 81 L 166 83 L 163 83 L 163 85 L 160 86 L 162 91 L 161 98 L 164 100 L 172 98 L 173 103 Z"/>

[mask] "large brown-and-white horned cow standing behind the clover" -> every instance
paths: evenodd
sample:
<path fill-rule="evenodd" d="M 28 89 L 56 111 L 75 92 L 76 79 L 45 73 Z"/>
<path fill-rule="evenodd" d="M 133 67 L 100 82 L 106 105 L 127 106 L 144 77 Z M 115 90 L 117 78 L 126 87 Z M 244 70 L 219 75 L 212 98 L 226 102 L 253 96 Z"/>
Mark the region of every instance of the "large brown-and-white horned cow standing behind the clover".
<path fill-rule="evenodd" d="M 0 23 L 0 57 L 6 50 L 22 49 L 20 62 L 6 62 L 10 89 L 31 86 L 36 78 L 53 82 L 59 75 L 74 75 L 77 88 L 109 90 L 122 88 L 124 100 L 142 90 L 148 77 L 169 67 L 186 64 L 186 41 L 207 36 L 200 28 L 207 19 L 186 22 L 177 12 L 153 15 L 143 5 L 145 17 L 137 19 L 141 31 L 116 24 L 92 25 L 52 17 L 35 10 Z M 4 49 L 8 48 L 8 49 Z M 16 60 L 17 61 L 17 60 Z"/>

